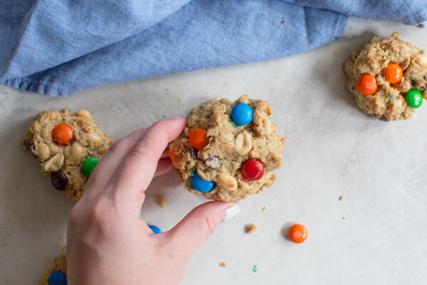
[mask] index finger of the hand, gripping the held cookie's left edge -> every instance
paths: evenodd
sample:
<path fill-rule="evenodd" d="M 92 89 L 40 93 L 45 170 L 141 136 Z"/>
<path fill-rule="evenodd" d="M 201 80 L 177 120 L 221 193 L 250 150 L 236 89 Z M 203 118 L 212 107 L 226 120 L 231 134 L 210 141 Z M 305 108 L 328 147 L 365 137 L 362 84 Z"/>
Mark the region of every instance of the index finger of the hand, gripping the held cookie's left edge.
<path fill-rule="evenodd" d="M 122 163 L 112 177 L 112 197 L 123 206 L 129 206 L 139 216 L 139 210 L 147 189 L 157 170 L 159 159 L 169 142 L 182 132 L 186 124 L 184 118 L 161 120 L 146 130 L 123 157 Z M 167 170 L 161 163 L 161 173 Z"/>

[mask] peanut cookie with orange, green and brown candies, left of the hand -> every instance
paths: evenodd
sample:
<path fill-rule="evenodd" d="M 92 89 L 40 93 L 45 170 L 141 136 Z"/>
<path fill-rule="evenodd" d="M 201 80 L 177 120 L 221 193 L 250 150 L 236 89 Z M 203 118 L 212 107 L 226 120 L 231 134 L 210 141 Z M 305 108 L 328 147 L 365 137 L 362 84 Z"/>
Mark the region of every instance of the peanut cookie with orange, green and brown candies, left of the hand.
<path fill-rule="evenodd" d="M 39 113 L 21 142 L 41 160 L 41 172 L 67 197 L 80 199 L 88 176 L 112 144 L 93 123 L 87 110 Z"/>

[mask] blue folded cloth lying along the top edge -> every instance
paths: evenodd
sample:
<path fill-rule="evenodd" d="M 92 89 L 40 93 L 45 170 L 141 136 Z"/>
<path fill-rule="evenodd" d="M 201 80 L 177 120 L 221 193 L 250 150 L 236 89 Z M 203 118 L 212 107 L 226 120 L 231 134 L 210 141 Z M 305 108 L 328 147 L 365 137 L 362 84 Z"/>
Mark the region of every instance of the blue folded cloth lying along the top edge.
<path fill-rule="evenodd" d="M 48 95 L 310 51 L 426 0 L 0 0 L 0 82 Z"/>

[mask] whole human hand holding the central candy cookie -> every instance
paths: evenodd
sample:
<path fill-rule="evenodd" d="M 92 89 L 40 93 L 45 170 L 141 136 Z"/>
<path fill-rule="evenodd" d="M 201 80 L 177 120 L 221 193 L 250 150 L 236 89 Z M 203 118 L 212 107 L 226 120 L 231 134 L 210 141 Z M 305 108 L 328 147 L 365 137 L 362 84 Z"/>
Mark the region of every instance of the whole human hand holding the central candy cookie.
<path fill-rule="evenodd" d="M 172 170 L 164 150 L 185 124 L 161 120 L 118 140 L 102 158 L 68 219 L 69 285 L 179 284 L 199 247 L 238 213 L 237 205 L 207 202 L 161 234 L 140 219 L 144 191 Z"/>

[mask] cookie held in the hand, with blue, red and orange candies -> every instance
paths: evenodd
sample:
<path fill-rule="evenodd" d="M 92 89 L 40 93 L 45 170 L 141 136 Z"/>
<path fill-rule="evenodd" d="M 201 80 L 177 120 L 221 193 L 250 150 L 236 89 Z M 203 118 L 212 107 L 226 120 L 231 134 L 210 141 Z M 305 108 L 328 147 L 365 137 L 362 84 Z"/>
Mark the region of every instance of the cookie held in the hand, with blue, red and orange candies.
<path fill-rule="evenodd" d="M 169 145 L 176 174 L 189 192 L 238 202 L 275 181 L 285 139 L 275 135 L 271 105 L 243 95 L 193 108 Z"/>

